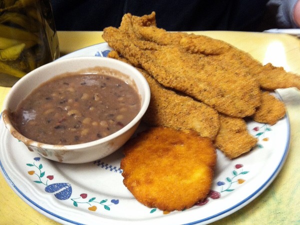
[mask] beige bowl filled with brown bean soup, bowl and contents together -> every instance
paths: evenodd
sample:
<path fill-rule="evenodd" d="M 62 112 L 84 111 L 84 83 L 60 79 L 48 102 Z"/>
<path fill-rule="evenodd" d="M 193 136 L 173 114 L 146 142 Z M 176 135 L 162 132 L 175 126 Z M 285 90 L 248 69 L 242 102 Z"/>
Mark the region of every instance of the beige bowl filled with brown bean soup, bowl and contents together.
<path fill-rule="evenodd" d="M 110 58 L 76 57 L 41 66 L 4 100 L 10 133 L 30 151 L 63 163 L 85 163 L 119 149 L 150 99 L 134 67 Z"/>

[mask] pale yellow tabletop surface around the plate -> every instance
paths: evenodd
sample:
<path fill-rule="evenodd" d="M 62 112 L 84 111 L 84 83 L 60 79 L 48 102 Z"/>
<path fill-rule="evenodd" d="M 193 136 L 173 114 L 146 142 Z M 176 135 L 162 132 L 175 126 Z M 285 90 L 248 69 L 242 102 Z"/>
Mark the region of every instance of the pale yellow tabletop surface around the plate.
<path fill-rule="evenodd" d="M 300 74 L 300 39 L 285 34 L 201 31 L 249 52 L 262 63 L 271 62 Z M 102 32 L 58 31 L 60 55 L 103 42 Z M 0 87 L 0 108 L 10 88 Z M 255 200 L 213 225 L 300 224 L 300 92 L 280 90 L 290 119 L 287 159 L 272 184 Z M 175 223 L 175 222 L 174 222 Z M 0 175 L 0 225 L 56 225 L 21 200 Z"/>

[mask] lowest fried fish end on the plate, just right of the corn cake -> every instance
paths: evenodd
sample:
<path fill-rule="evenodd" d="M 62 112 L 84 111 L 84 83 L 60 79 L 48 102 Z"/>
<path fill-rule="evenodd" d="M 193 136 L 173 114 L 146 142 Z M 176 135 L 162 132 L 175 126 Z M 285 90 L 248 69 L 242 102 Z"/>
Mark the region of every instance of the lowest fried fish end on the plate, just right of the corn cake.
<path fill-rule="evenodd" d="M 214 140 L 214 145 L 229 159 L 234 159 L 250 151 L 257 139 L 247 131 L 243 119 L 219 115 L 220 129 Z"/>

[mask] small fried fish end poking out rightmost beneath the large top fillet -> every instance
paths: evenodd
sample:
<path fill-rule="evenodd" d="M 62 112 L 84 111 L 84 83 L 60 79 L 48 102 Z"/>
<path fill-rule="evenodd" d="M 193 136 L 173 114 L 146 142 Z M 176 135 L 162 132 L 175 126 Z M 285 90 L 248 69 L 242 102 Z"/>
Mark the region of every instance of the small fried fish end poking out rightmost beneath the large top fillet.
<path fill-rule="evenodd" d="M 285 107 L 283 102 L 266 91 L 262 93 L 261 105 L 253 115 L 253 119 L 258 123 L 274 125 L 284 115 Z"/>

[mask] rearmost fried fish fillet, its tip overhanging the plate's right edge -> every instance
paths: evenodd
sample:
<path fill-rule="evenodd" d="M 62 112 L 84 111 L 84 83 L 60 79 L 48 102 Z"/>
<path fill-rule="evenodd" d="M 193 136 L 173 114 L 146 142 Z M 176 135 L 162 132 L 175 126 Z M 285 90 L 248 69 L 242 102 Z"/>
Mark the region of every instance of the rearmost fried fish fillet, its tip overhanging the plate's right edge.
<path fill-rule="evenodd" d="M 286 72 L 282 67 L 275 67 L 271 63 L 262 65 L 249 53 L 244 52 L 222 40 L 213 39 L 205 35 L 186 34 L 182 32 L 166 32 L 156 27 L 155 13 L 145 16 L 125 14 L 124 22 L 119 29 L 125 30 L 126 23 L 131 21 L 131 31 L 144 40 L 160 45 L 181 45 L 191 53 L 212 55 L 216 61 L 225 59 L 227 65 L 245 67 L 265 90 L 296 87 L 300 90 L 300 76 Z M 131 20 L 130 20 L 131 19 Z M 147 22 L 148 21 L 148 22 Z"/>

